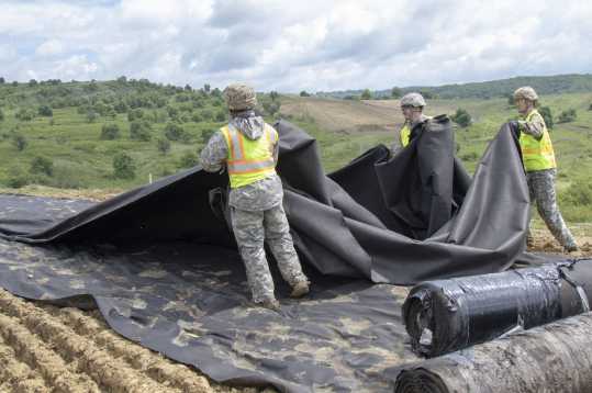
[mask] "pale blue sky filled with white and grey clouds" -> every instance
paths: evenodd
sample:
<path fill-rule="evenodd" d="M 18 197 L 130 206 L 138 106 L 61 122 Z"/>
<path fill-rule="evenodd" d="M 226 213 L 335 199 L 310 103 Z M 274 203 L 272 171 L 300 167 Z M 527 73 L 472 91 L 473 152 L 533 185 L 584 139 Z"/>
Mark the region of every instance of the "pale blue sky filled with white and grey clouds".
<path fill-rule="evenodd" d="M 299 92 L 592 72 L 592 1 L 0 0 L 0 77 Z"/>

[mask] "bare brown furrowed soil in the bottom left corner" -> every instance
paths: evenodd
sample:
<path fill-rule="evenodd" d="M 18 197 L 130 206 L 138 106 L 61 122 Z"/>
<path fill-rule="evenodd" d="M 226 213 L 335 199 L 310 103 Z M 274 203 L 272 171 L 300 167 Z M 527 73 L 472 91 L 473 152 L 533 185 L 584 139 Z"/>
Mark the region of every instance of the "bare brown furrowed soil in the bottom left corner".
<path fill-rule="evenodd" d="M 99 312 L 0 290 L 0 392 L 248 392 L 209 381 L 114 333 Z M 267 390 L 272 392 L 272 390 Z"/>

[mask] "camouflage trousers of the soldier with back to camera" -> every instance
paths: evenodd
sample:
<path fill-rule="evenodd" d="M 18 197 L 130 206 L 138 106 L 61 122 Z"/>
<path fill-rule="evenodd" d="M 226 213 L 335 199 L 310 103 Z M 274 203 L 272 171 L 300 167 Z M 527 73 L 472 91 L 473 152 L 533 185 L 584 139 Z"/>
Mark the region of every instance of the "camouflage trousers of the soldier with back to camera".
<path fill-rule="evenodd" d="M 281 276 L 291 287 L 308 280 L 302 272 L 281 203 L 269 210 L 255 212 L 232 207 L 231 218 L 255 303 L 276 299 L 264 240 L 267 240 L 278 261 Z"/>

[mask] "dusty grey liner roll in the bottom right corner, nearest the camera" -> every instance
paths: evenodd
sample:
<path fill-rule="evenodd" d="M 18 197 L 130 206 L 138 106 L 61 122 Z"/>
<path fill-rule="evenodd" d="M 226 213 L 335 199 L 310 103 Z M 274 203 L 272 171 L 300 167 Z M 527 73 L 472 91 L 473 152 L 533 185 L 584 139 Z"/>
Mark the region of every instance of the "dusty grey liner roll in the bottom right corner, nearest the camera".
<path fill-rule="evenodd" d="M 395 393 L 592 392 L 592 314 L 388 370 Z"/>

